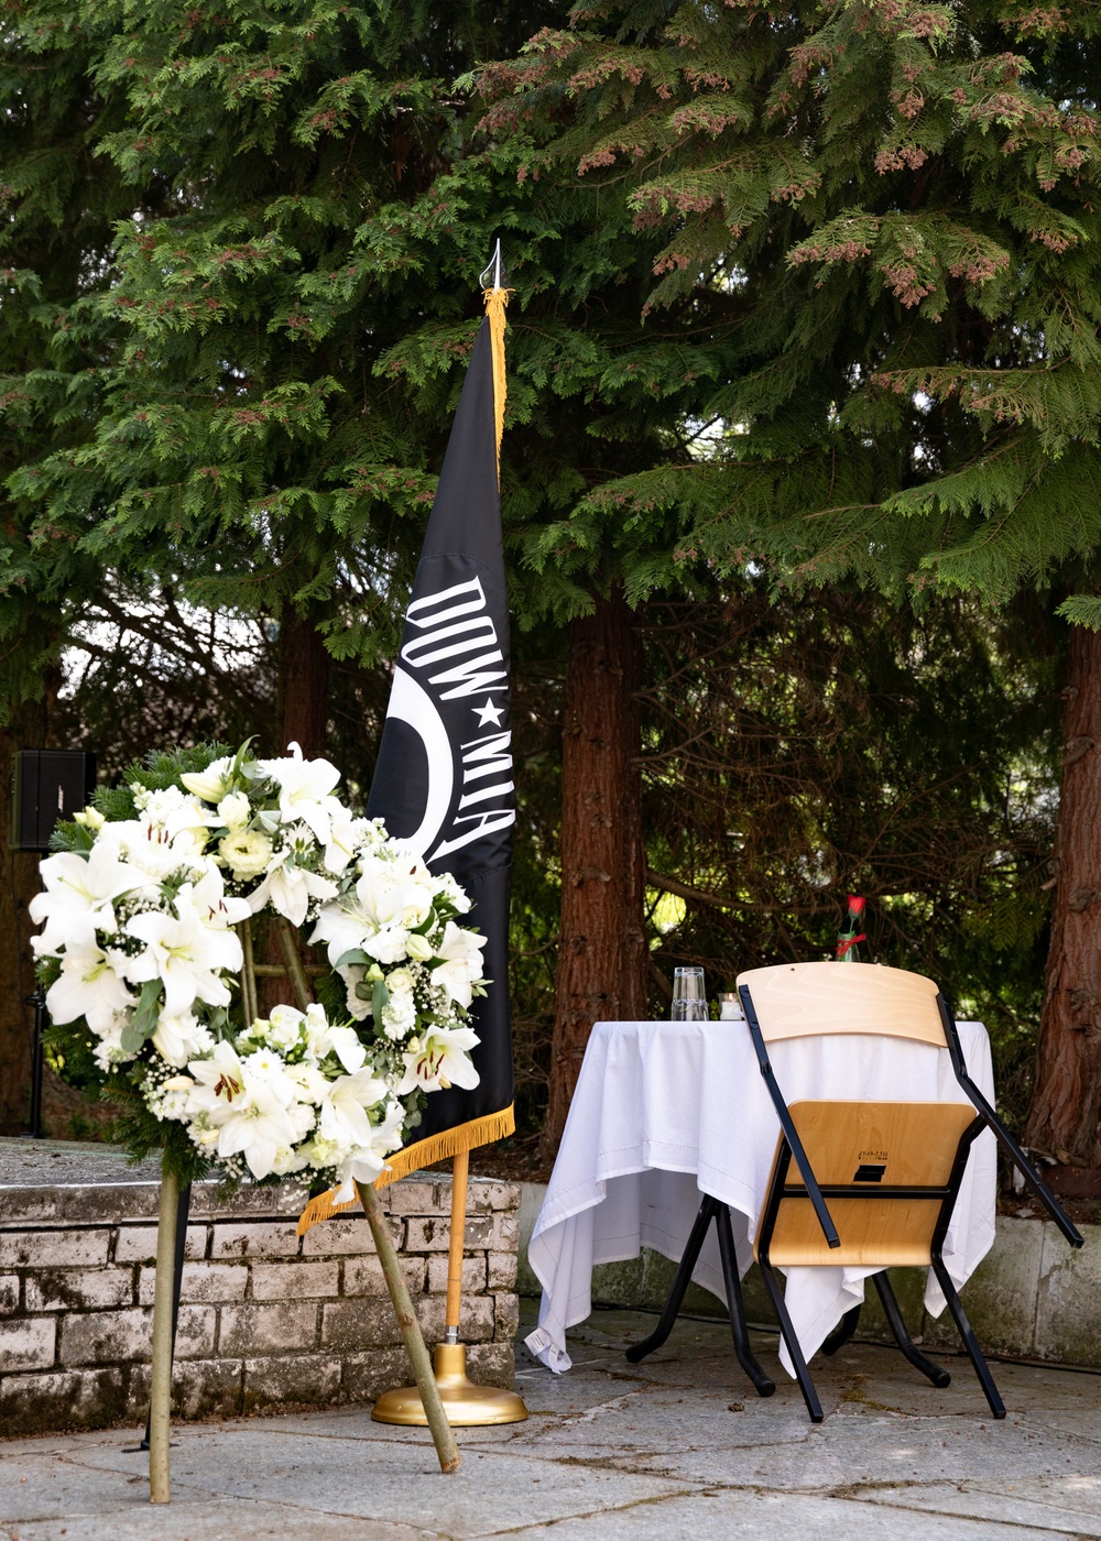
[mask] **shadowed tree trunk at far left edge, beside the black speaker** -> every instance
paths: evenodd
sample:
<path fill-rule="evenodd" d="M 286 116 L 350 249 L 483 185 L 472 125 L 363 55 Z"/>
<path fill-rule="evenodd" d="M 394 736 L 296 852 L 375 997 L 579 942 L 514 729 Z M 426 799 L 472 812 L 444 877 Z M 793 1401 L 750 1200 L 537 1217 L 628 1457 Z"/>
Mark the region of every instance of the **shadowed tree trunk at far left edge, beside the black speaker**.
<path fill-rule="evenodd" d="M 46 707 L 37 701 L 19 707 L 11 726 L 0 730 L 0 787 L 11 786 L 15 754 L 45 743 Z M 0 807 L 0 1134 L 22 1134 L 31 1114 L 34 926 L 28 905 L 39 892 L 35 851 L 11 849 L 11 818 Z"/>

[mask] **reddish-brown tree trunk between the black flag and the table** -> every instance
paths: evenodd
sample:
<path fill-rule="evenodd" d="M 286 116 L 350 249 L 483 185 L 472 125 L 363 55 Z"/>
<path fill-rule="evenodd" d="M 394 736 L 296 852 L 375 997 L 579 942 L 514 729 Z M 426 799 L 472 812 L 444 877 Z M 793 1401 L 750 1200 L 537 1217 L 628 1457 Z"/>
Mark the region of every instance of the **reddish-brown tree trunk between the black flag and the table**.
<path fill-rule="evenodd" d="M 646 1016 L 637 690 L 641 647 L 621 592 L 569 629 L 561 757 L 561 937 L 546 1159 L 558 1150 L 594 1022 Z"/>

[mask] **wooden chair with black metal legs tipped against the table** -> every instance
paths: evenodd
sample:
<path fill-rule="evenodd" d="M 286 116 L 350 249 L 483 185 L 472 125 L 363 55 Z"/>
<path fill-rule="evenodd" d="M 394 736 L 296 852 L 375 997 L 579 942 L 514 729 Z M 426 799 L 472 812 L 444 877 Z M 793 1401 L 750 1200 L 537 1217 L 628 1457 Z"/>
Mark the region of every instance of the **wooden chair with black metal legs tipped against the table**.
<path fill-rule="evenodd" d="M 990 1410 L 995 1418 L 1004 1418 L 998 1387 L 941 1256 L 967 1156 L 984 1128 L 993 1131 L 1070 1245 L 1081 1247 L 1082 1237 L 967 1074 L 947 1000 L 933 980 L 921 974 L 871 963 L 783 963 L 740 974 L 737 988 L 760 1073 L 780 1120 L 754 1254 L 811 1419 L 822 1421 L 822 1405 L 774 1265 L 931 1267 Z M 822 1034 L 876 1034 L 947 1048 L 970 1106 L 961 1102 L 837 1100 L 800 1102 L 790 1108 L 773 1074 L 766 1045 Z M 802 1180 L 788 1180 L 793 1162 Z M 902 1353 L 934 1385 L 947 1385 L 947 1371 L 910 1341 L 887 1274 L 877 1271 L 873 1281 Z M 859 1307 L 847 1314 L 823 1351 L 836 1351 L 851 1336 L 857 1316 Z"/>

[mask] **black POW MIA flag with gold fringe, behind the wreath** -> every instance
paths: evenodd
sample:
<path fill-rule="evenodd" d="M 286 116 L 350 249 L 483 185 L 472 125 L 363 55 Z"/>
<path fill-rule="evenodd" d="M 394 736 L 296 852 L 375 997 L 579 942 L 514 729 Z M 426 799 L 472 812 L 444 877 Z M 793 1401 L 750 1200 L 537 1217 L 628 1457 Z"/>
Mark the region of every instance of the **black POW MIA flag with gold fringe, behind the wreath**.
<path fill-rule="evenodd" d="M 470 354 L 395 660 L 390 706 L 367 801 L 430 871 L 472 900 L 492 980 L 470 1026 L 480 1082 L 433 1091 L 412 1145 L 384 1180 L 512 1134 L 509 883 L 517 821 L 509 715 L 509 609 L 501 549 L 498 442 L 504 407 L 504 290 Z"/>

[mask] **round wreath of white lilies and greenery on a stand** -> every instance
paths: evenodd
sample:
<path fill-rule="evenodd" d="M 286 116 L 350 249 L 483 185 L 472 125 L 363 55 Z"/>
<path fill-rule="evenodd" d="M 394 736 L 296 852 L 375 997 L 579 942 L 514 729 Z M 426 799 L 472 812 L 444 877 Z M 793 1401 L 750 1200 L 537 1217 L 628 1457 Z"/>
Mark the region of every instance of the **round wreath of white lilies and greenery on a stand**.
<path fill-rule="evenodd" d="M 31 914 L 54 1042 L 89 1049 L 137 1106 L 139 1150 L 168 1154 L 177 1126 L 188 1176 L 308 1173 L 342 1200 L 406 1142 L 421 1094 L 478 1082 L 466 1019 L 487 982 L 483 938 L 456 923 L 469 900 L 338 783 L 298 744 L 276 760 L 248 746 L 151 757 L 42 863 Z M 259 1016 L 258 915 L 276 917 L 299 983 L 296 932 L 311 923 L 325 1005 Z"/>

